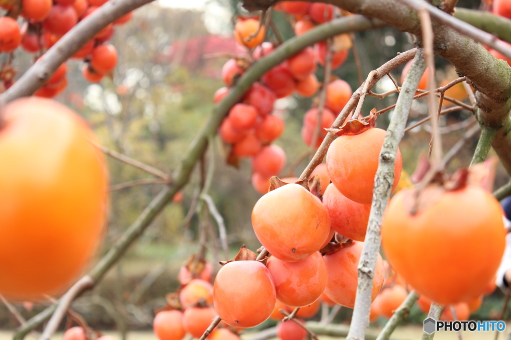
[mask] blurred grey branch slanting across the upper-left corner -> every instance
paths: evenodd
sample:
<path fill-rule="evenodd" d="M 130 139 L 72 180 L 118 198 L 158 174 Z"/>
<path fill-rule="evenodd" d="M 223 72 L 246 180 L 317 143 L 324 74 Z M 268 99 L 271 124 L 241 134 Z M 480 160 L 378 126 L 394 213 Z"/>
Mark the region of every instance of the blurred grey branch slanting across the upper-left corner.
<path fill-rule="evenodd" d="M 67 59 L 108 24 L 153 0 L 110 0 L 78 22 L 37 63 L 0 95 L 0 107 L 16 98 L 32 95 Z"/>

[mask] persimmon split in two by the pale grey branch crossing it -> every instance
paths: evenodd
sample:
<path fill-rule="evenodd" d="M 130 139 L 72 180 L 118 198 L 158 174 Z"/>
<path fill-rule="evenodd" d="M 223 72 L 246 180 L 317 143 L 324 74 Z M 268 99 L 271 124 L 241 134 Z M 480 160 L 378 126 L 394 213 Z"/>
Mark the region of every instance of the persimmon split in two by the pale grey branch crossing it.
<path fill-rule="evenodd" d="M 332 255 L 323 256 L 327 263 L 328 280 L 324 293 L 336 303 L 353 308 L 358 283 L 358 263 L 362 254 L 363 242 L 354 241 L 351 247 L 343 248 Z M 376 270 L 373 277 L 373 301 L 380 293 L 385 269 L 383 259 L 378 254 Z"/>

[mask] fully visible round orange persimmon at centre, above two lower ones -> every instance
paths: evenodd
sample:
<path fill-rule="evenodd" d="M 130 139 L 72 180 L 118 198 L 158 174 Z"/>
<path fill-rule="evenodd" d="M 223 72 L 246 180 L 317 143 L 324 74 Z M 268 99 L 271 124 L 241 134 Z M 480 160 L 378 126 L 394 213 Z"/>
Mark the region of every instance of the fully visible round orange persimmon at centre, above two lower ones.
<path fill-rule="evenodd" d="M 252 226 L 270 254 L 296 262 L 320 249 L 330 233 L 330 217 L 316 196 L 298 184 L 288 184 L 255 203 Z"/>

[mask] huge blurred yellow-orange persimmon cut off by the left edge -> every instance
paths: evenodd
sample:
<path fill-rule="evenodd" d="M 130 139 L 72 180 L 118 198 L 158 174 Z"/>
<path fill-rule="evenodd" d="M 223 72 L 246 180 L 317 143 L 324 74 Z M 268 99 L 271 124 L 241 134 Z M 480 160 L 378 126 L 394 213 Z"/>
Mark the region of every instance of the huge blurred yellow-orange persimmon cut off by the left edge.
<path fill-rule="evenodd" d="M 72 284 L 98 249 L 108 172 L 94 134 L 62 104 L 21 98 L 3 114 L 0 294 L 40 299 Z"/>

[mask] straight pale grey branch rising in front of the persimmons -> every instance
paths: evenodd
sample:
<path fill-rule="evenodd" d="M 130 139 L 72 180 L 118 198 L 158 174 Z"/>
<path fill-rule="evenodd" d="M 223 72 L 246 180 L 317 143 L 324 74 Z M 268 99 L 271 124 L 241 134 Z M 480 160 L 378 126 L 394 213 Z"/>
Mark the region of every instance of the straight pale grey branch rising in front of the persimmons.
<path fill-rule="evenodd" d="M 394 181 L 394 164 L 398 145 L 404 136 L 404 130 L 415 90 L 419 85 L 426 65 L 422 49 L 417 51 L 415 59 L 406 75 L 398 96 L 396 110 L 390 119 L 387 134 L 379 156 L 378 170 L 375 177 L 373 201 L 367 223 L 364 247 L 358 265 L 358 285 L 355 307 L 347 340 L 362 340 L 369 325 L 369 309 L 373 291 L 373 277 L 376 270 L 377 256 L 380 250 L 380 226 L 383 212 L 392 190 Z"/>

